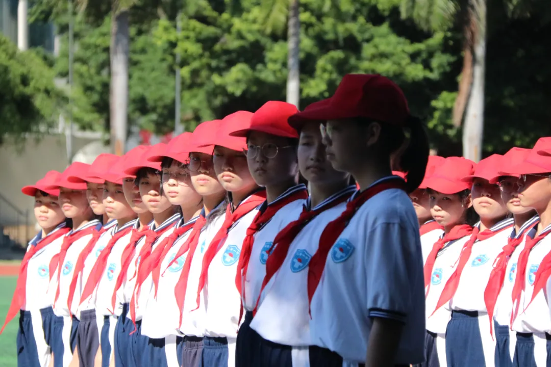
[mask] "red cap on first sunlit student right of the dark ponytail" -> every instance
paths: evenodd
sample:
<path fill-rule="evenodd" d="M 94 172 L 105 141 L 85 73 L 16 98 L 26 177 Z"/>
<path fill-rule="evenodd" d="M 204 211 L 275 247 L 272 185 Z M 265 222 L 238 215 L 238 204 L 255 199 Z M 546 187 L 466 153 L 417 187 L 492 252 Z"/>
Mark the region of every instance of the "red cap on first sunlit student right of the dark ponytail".
<path fill-rule="evenodd" d="M 434 169 L 431 176 L 425 179 L 426 187 L 446 195 L 470 189 L 471 184 L 462 179 L 473 174 L 474 166 L 474 162 L 467 158 L 445 158 L 444 162 Z"/>

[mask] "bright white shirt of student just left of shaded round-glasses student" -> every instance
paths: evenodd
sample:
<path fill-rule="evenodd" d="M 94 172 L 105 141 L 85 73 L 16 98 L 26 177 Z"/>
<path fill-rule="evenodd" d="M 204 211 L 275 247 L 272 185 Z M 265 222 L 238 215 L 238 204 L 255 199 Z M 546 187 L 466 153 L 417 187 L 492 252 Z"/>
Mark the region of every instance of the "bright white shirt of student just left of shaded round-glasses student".
<path fill-rule="evenodd" d="M 220 249 L 210 263 L 207 283 L 201 291 L 200 305 L 206 311 L 205 336 L 237 338 L 241 297 L 235 286 L 235 276 L 243 240 L 257 213 L 258 207 L 230 227 L 227 237 L 220 242 Z"/>

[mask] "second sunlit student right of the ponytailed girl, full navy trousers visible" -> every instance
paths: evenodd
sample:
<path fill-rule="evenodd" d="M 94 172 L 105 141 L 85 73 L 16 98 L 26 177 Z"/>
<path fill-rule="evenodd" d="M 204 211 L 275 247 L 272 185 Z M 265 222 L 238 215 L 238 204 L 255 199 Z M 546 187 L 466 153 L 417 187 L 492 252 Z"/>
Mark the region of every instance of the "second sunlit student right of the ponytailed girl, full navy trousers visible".
<path fill-rule="evenodd" d="M 446 328 L 448 366 L 494 365 L 495 339 L 488 323 L 484 290 L 514 225 L 498 185 L 489 183 L 498 174 L 501 158 L 494 154 L 483 159 L 473 174 L 462 179 L 471 187 L 471 201 L 480 222 L 463 245 L 435 306 L 451 311 Z"/>

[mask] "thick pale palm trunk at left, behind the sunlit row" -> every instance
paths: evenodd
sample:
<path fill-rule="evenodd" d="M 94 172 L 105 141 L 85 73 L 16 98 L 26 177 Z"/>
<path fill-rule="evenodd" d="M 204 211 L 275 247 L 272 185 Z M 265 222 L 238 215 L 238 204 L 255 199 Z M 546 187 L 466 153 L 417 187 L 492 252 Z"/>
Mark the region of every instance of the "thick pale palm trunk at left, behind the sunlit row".
<path fill-rule="evenodd" d="M 126 129 L 128 124 L 128 10 L 112 12 L 111 18 L 111 149 L 116 155 L 125 154 Z"/>

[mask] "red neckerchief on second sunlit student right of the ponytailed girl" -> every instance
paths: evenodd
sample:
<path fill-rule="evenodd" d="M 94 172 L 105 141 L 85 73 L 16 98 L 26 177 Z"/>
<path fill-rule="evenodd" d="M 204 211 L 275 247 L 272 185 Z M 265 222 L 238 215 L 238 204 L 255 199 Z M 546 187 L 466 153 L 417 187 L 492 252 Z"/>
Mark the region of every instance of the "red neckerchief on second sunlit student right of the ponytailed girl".
<path fill-rule="evenodd" d="M 483 241 L 485 239 L 494 237 L 494 235 L 505 231 L 506 229 L 511 229 L 513 224 L 511 223 L 509 226 L 503 227 L 498 229 L 497 231 L 491 231 L 490 229 L 484 229 L 484 231 L 479 232 L 480 229 L 478 227 L 473 228 L 473 233 L 471 234 L 471 238 L 463 245 L 463 249 L 461 250 L 461 255 L 459 256 L 459 262 L 455 269 L 455 271 L 452 273 L 448 281 L 446 282 L 446 285 L 444 286 L 444 289 L 442 289 L 442 294 L 440 294 L 440 298 L 438 302 L 436 303 L 436 308 L 434 309 L 433 313 L 434 315 L 437 309 L 440 308 L 440 306 L 444 305 L 446 302 L 449 302 L 450 299 L 452 299 L 453 295 L 455 295 L 455 292 L 457 291 L 457 287 L 459 286 L 459 281 L 461 278 L 461 273 L 463 272 L 463 269 L 465 265 L 467 264 L 467 261 L 471 257 L 471 253 L 473 251 L 473 245 L 474 242 L 477 240 Z"/>

